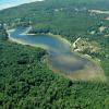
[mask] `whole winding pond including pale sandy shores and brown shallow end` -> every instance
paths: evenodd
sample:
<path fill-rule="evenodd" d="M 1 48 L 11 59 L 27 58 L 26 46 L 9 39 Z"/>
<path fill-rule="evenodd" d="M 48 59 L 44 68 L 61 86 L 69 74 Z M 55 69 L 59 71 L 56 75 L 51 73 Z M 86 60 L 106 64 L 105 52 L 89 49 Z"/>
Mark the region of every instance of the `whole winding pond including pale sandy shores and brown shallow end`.
<path fill-rule="evenodd" d="M 55 35 L 27 34 L 28 29 L 29 27 L 10 29 L 9 39 L 46 49 L 49 53 L 48 64 L 53 72 L 71 80 L 106 80 L 101 66 L 92 59 L 72 52 L 66 39 Z"/>

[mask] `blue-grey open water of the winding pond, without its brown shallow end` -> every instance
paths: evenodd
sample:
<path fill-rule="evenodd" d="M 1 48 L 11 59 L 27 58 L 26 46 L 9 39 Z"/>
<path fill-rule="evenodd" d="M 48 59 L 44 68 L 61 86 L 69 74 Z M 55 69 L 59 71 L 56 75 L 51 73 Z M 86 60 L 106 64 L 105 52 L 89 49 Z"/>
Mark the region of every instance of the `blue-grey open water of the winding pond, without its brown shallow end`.
<path fill-rule="evenodd" d="M 26 45 L 39 46 L 47 49 L 49 52 L 49 63 L 52 68 L 62 71 L 64 74 L 74 73 L 75 71 L 84 70 L 86 66 L 95 68 L 95 63 L 86 58 L 71 52 L 70 44 L 63 41 L 60 37 L 49 35 L 27 35 L 22 34 L 25 28 L 17 27 L 10 33 L 10 37 Z"/>

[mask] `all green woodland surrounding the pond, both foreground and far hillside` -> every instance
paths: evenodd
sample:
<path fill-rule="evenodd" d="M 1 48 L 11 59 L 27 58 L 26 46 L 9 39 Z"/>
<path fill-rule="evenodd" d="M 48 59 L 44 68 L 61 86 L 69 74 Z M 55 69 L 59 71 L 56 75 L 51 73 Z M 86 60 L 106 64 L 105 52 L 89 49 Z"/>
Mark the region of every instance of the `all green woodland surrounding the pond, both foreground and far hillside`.
<path fill-rule="evenodd" d="M 0 29 L 0 109 L 109 109 L 109 14 L 88 11 L 106 11 L 108 4 L 108 0 L 45 0 L 0 11 L 0 22 L 8 28 L 31 24 L 32 33 L 96 43 L 100 51 L 81 53 L 99 59 L 107 77 L 106 82 L 64 78 L 49 70 L 45 50 L 11 43 Z M 106 29 L 99 32 L 102 26 Z"/>

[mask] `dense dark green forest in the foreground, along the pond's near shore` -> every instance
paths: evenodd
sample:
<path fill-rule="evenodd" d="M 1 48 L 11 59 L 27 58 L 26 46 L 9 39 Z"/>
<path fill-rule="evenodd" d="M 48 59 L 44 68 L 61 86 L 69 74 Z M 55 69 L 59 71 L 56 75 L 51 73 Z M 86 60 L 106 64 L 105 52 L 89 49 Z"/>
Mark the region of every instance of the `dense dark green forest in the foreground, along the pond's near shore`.
<path fill-rule="evenodd" d="M 59 76 L 48 69 L 45 50 L 4 37 L 0 39 L 1 109 L 109 108 L 108 82 L 72 82 Z"/>

